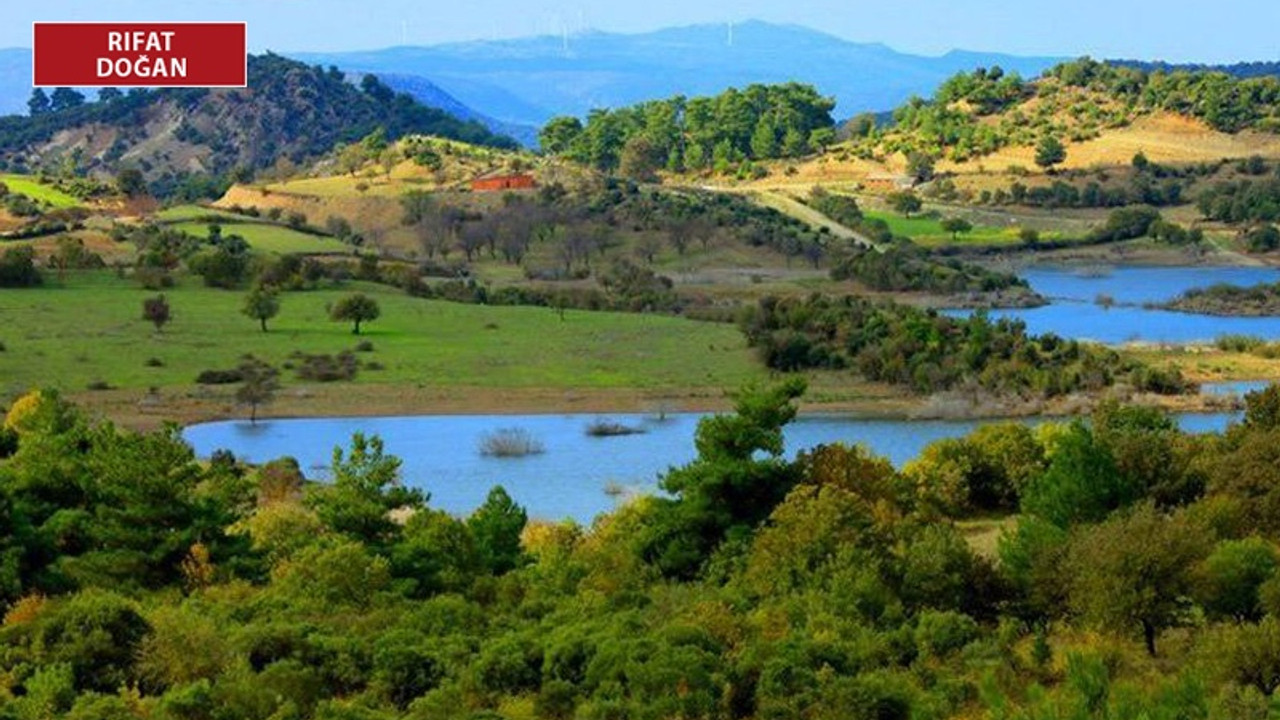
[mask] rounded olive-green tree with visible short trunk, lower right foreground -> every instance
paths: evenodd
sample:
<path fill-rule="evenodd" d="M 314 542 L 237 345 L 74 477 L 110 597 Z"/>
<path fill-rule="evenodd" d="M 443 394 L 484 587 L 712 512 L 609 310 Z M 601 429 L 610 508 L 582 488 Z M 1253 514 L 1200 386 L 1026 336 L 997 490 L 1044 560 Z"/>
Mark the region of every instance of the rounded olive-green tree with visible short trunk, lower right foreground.
<path fill-rule="evenodd" d="M 1153 656 L 1160 632 L 1181 616 L 1193 568 L 1207 553 L 1202 528 L 1149 503 L 1138 506 L 1073 541 L 1066 562 L 1071 607 L 1105 629 L 1140 629 Z"/>

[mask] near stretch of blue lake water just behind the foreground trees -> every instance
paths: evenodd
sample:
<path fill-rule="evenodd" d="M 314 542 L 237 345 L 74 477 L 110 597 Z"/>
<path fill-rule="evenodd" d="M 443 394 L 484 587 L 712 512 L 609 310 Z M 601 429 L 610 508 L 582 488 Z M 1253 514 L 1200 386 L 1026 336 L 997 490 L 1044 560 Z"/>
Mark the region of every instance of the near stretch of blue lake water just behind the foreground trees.
<path fill-rule="evenodd" d="M 701 415 L 643 415 L 609 419 L 643 427 L 643 434 L 588 437 L 595 415 L 436 415 L 411 418 L 339 418 L 269 420 L 251 425 L 228 420 L 192 425 L 183 437 L 200 456 L 228 448 L 237 457 L 262 462 L 291 455 L 308 478 L 323 479 L 335 446 L 351 434 L 378 434 L 387 452 L 404 460 L 407 486 L 431 493 L 431 506 L 466 514 L 495 484 L 534 518 L 573 518 L 589 523 L 630 493 L 655 492 L 658 477 L 694 459 L 694 429 Z M 1184 415 L 1190 432 L 1216 432 L 1230 415 Z M 987 420 L 989 421 L 989 420 Z M 1028 420 L 1030 421 L 1030 420 Z M 941 438 L 972 432 L 982 420 L 868 420 L 842 415 L 806 415 L 786 429 L 788 455 L 822 443 L 864 443 L 895 465 L 919 455 Z M 545 452 L 517 459 L 485 457 L 480 441 L 502 428 L 520 428 L 543 442 Z M 613 492 L 608 492 L 608 491 Z"/>

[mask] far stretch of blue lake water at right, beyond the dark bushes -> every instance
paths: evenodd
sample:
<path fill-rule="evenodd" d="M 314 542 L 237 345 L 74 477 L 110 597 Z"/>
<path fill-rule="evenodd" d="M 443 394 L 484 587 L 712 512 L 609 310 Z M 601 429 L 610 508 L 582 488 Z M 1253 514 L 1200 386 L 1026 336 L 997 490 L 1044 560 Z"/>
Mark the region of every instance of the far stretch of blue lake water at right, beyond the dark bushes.
<path fill-rule="evenodd" d="M 1280 318 L 1219 318 L 1140 307 L 1144 302 L 1172 300 L 1194 287 L 1274 283 L 1280 281 L 1280 270 L 1275 268 L 1028 268 L 1018 274 L 1051 304 L 995 310 L 991 315 L 1021 318 L 1034 334 L 1053 332 L 1108 345 L 1206 342 L 1236 333 L 1280 338 Z M 1100 295 L 1120 305 L 1139 306 L 1103 307 L 1097 304 Z"/>

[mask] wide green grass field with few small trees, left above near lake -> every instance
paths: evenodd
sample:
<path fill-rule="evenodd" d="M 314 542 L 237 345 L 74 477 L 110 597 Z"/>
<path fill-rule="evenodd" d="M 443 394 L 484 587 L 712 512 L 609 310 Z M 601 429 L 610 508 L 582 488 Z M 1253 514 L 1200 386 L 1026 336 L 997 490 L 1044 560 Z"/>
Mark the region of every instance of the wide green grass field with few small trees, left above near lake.
<path fill-rule="evenodd" d="M 381 305 L 381 318 L 358 338 L 326 311 L 355 290 Z M 262 333 L 239 313 L 242 292 L 182 278 L 166 292 L 173 320 L 157 333 L 141 319 L 142 299 L 151 295 L 104 272 L 0 293 L 0 389 L 12 397 L 41 386 L 77 392 L 95 382 L 192 387 L 201 370 L 233 368 L 246 352 L 282 365 L 296 350 L 339 352 L 360 340 L 374 343 L 361 361 L 384 369 L 361 370 L 357 386 L 733 388 L 764 373 L 732 325 L 678 318 L 568 311 L 562 322 L 543 307 L 428 301 L 352 283 L 284 295 L 280 315 Z M 152 357 L 163 366 L 147 366 Z M 298 384 L 292 373 L 283 380 Z"/>

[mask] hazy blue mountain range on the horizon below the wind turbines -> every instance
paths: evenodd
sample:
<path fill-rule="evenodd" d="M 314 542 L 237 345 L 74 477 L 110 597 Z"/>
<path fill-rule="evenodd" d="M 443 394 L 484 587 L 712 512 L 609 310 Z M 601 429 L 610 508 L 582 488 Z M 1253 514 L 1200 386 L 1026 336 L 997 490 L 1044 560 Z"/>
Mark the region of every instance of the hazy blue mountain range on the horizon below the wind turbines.
<path fill-rule="evenodd" d="M 585 115 L 594 108 L 786 81 L 810 83 L 835 96 L 836 114 L 847 117 L 897 106 L 911 95 L 931 95 L 960 70 L 1001 65 L 1036 76 L 1061 60 L 969 51 L 925 58 L 764 22 L 291 56 L 353 72 L 430 78 L 470 108 L 532 126 L 561 114 Z"/>

